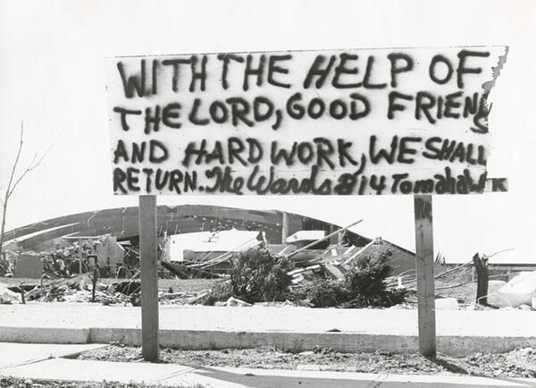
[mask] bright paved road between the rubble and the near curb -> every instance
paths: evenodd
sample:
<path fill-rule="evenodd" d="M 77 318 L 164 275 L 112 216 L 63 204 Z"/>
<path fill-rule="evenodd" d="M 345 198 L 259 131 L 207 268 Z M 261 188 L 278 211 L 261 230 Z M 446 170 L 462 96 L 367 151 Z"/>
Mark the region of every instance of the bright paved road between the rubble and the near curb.
<path fill-rule="evenodd" d="M 438 335 L 535 337 L 536 313 L 520 310 L 439 310 Z M 0 327 L 139 328 L 140 308 L 87 303 L 0 305 Z M 160 308 L 160 328 L 243 332 L 416 335 L 417 311 L 339 308 Z"/>

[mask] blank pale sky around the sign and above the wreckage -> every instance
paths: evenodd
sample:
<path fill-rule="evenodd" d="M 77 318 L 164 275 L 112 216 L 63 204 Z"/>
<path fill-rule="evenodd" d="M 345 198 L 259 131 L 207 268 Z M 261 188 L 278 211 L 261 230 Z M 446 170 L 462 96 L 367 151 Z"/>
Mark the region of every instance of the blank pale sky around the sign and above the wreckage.
<path fill-rule="evenodd" d="M 21 166 L 52 146 L 21 181 L 7 229 L 106 207 L 113 197 L 105 57 L 317 48 L 507 45 L 491 94 L 493 177 L 510 191 L 434 199 L 436 251 L 450 261 L 515 248 L 497 260 L 536 261 L 532 1 L 5 1 L 0 0 L 0 183 L 18 144 Z M 276 208 L 414 249 L 413 198 L 160 197 L 160 204 Z"/>

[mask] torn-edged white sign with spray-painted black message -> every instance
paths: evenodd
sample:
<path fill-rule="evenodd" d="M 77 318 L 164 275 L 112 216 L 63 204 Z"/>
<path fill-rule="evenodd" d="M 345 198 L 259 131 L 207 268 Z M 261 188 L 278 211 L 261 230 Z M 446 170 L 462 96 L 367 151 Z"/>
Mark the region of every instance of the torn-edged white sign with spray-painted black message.
<path fill-rule="evenodd" d="M 507 47 L 106 60 L 115 194 L 471 194 Z M 490 184 L 492 183 L 492 184 Z"/>

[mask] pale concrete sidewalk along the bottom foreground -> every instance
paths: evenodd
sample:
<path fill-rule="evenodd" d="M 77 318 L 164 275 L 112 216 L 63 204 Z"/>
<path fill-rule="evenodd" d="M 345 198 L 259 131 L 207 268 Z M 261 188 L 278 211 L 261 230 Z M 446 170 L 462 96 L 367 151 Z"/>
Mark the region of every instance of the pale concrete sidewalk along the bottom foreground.
<path fill-rule="evenodd" d="M 161 384 L 165 386 L 202 386 L 214 388 L 292 387 L 350 388 L 350 387 L 535 387 L 536 379 L 496 379 L 464 375 L 390 375 L 348 372 L 309 372 L 278 369 L 237 367 L 188 367 L 172 364 L 122 363 L 43 358 L 27 346 L 0 343 L 0 350 L 20 354 L 21 364 L 1 366 L 0 375 L 32 380 L 63 380 L 80 382 L 119 382 Z M 88 345 L 40 345 L 39 354 L 52 357 L 72 356 L 88 350 Z M 25 355 L 25 356 L 22 356 Z M 55 356 L 54 356 L 55 355 Z M 28 363 L 29 359 L 34 362 Z"/>

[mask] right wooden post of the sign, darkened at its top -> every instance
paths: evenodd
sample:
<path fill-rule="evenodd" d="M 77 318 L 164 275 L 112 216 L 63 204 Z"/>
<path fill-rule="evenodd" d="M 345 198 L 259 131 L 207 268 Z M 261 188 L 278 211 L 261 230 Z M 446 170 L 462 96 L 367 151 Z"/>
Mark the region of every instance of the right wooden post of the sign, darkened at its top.
<path fill-rule="evenodd" d="M 415 264 L 419 320 L 419 351 L 436 356 L 435 291 L 431 195 L 415 195 Z"/>

